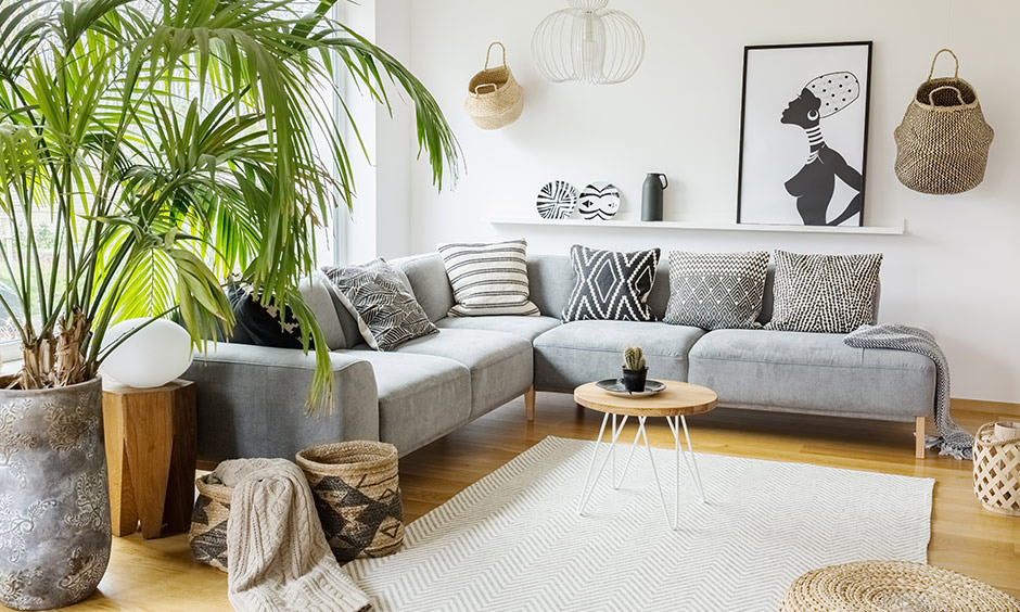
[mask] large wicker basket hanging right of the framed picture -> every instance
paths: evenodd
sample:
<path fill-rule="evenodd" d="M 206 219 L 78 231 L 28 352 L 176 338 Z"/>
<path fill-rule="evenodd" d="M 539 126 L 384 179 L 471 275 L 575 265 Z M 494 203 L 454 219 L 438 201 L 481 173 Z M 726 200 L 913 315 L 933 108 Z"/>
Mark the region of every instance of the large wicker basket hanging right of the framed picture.
<path fill-rule="evenodd" d="M 942 53 L 956 60 L 956 73 L 934 78 Z M 928 80 L 917 89 L 894 136 L 896 177 L 914 191 L 962 193 L 984 180 L 995 131 L 984 120 L 974 88 L 959 78 L 959 60 L 953 51 L 935 53 Z"/>

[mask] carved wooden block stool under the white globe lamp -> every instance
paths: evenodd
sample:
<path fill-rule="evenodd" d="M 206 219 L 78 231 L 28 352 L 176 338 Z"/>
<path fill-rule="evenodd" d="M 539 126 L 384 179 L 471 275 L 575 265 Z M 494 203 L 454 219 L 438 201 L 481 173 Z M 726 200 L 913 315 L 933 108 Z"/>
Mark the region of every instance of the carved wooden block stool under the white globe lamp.
<path fill-rule="evenodd" d="M 151 539 L 186 532 L 194 505 L 197 445 L 195 386 L 176 380 L 156 388 L 103 384 L 111 527 Z"/>

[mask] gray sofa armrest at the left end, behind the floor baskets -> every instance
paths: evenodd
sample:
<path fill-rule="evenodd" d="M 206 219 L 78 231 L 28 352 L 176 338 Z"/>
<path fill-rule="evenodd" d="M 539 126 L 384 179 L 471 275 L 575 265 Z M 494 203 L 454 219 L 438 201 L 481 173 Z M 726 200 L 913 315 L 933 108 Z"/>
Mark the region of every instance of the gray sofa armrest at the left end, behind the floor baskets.
<path fill-rule="evenodd" d="M 209 345 L 186 379 L 199 401 L 199 459 L 282 457 L 314 444 L 379 439 L 379 399 L 371 364 L 330 354 L 329 413 L 306 413 L 315 354 L 245 344 Z"/>

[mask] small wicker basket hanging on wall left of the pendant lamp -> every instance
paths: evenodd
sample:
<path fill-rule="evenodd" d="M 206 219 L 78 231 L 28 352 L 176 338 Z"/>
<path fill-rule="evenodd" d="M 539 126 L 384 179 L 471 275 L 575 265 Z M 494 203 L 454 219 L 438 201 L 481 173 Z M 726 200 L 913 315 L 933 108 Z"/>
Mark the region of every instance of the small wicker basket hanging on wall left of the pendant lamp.
<path fill-rule="evenodd" d="M 493 47 L 502 49 L 502 65 L 488 67 Z M 513 78 L 507 65 L 507 48 L 493 42 L 485 53 L 485 67 L 468 84 L 464 111 L 482 129 L 499 129 L 518 120 L 524 110 L 524 89 Z"/>

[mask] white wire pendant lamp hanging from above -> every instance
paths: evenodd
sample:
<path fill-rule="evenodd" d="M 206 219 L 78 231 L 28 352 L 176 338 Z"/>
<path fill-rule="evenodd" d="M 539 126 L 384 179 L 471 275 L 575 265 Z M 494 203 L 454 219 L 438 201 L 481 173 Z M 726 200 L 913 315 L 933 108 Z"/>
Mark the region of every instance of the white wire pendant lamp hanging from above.
<path fill-rule="evenodd" d="M 569 0 L 543 20 L 532 37 L 541 76 L 553 82 L 613 85 L 634 76 L 645 60 L 645 35 L 609 0 Z"/>

